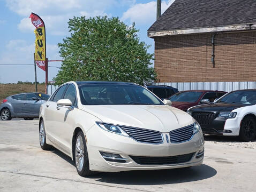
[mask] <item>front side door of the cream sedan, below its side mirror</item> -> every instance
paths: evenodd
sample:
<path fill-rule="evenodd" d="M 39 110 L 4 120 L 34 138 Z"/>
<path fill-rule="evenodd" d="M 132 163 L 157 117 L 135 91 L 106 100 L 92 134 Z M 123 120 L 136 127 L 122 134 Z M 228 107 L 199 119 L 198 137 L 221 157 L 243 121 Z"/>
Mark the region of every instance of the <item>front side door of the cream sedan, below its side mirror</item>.
<path fill-rule="evenodd" d="M 63 107 L 63 106 L 57 106 L 56 109 L 56 115 L 55 115 L 55 125 L 56 125 L 56 132 L 59 136 L 59 140 L 57 140 L 57 143 L 62 150 L 64 150 L 66 153 L 69 153 L 71 149 L 71 135 L 73 133 L 73 130 L 75 127 L 74 125 L 74 113 L 76 113 L 77 109 L 77 93 L 76 93 L 76 87 L 73 84 L 69 84 L 69 87 L 67 87 L 63 99 L 69 99 L 72 102 L 72 109 Z"/>

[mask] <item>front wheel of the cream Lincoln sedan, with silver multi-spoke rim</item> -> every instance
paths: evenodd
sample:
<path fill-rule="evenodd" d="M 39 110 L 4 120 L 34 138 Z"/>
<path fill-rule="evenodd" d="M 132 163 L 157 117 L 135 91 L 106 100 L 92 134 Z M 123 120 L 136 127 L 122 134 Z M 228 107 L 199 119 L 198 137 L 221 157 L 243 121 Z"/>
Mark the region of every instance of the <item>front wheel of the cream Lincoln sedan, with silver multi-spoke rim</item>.
<path fill-rule="evenodd" d="M 79 132 L 74 144 L 74 164 L 80 176 L 86 177 L 94 172 L 89 169 L 89 158 L 87 153 L 86 141 L 83 132 Z"/>

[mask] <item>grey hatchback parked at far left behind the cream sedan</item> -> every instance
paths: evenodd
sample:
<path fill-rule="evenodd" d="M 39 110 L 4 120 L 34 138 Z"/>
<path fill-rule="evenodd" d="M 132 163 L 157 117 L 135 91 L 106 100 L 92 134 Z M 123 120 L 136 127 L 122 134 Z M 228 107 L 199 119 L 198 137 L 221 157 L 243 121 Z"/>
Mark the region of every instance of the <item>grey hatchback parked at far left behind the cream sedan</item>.
<path fill-rule="evenodd" d="M 0 105 L 0 114 L 3 121 L 21 117 L 25 120 L 33 120 L 39 117 L 42 103 L 49 99 L 44 93 L 21 93 L 11 95 L 4 99 Z"/>

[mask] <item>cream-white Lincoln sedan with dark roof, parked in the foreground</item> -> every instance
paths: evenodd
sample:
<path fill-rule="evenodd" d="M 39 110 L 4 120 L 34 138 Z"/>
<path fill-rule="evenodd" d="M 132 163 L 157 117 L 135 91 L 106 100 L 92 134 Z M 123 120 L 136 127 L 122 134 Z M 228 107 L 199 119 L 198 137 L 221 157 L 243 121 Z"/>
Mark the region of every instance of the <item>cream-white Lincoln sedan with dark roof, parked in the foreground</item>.
<path fill-rule="evenodd" d="M 134 83 L 65 83 L 40 108 L 41 148 L 70 156 L 81 176 L 200 165 L 200 125 L 167 102 Z"/>

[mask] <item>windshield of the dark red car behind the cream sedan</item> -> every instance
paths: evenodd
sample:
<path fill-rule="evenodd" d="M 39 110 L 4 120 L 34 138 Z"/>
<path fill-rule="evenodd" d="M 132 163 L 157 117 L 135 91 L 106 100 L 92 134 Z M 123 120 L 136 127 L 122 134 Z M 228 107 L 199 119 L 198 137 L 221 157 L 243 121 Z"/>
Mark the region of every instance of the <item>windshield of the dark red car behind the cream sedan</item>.
<path fill-rule="evenodd" d="M 171 102 L 196 102 L 201 94 L 202 92 L 200 91 L 179 92 L 172 95 L 169 100 Z"/>

